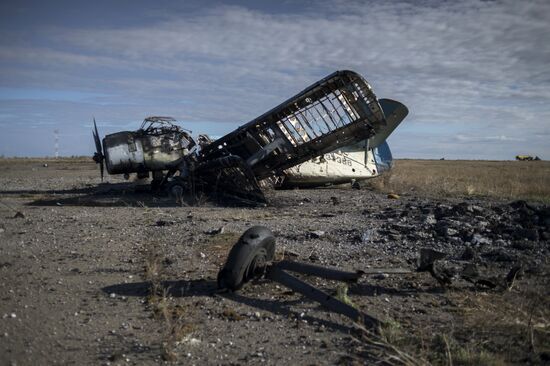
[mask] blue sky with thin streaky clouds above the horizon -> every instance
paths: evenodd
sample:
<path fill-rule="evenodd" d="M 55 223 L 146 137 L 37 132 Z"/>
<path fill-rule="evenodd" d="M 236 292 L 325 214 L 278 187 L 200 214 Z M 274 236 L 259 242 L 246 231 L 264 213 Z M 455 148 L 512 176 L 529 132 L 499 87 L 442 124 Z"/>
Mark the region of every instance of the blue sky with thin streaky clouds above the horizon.
<path fill-rule="evenodd" d="M 0 155 L 150 115 L 223 136 L 336 70 L 409 116 L 395 158 L 550 159 L 550 1 L 0 2 Z"/>

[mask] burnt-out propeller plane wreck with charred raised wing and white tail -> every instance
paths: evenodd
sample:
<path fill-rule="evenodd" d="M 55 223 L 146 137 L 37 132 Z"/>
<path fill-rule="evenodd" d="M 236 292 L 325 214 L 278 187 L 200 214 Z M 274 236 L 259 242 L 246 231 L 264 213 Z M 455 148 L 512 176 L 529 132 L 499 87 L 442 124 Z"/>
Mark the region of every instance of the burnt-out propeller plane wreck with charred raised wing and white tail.
<path fill-rule="evenodd" d="M 206 194 L 229 204 L 264 205 L 259 182 L 276 186 L 354 183 L 391 167 L 385 142 L 407 107 L 378 100 L 353 71 L 336 71 L 235 131 L 212 141 L 149 117 L 137 131 L 100 141 L 94 161 L 109 174 L 152 175 L 152 188 L 192 199 Z M 316 160 L 315 160 L 316 159 Z M 341 165 L 329 171 L 328 161 Z"/>

